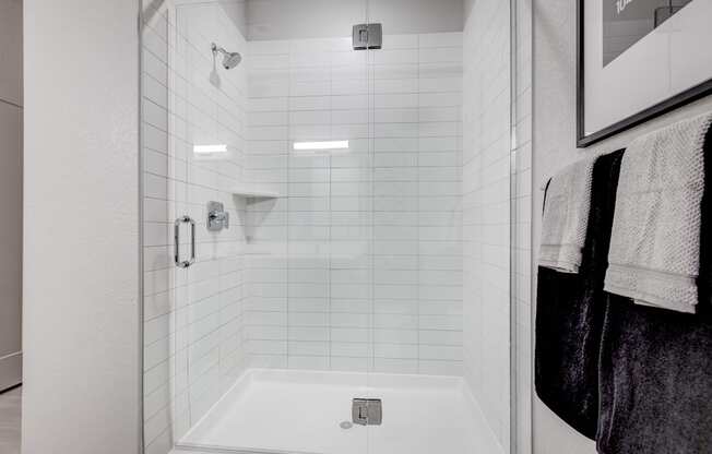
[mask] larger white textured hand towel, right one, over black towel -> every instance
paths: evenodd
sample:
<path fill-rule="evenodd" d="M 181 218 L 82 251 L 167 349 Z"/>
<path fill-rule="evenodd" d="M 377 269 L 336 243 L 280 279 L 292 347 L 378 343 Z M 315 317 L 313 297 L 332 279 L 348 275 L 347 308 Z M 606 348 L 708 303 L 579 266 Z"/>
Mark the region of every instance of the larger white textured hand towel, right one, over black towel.
<path fill-rule="evenodd" d="M 636 141 L 624 155 L 605 289 L 639 304 L 695 313 L 704 140 L 712 113 Z"/>

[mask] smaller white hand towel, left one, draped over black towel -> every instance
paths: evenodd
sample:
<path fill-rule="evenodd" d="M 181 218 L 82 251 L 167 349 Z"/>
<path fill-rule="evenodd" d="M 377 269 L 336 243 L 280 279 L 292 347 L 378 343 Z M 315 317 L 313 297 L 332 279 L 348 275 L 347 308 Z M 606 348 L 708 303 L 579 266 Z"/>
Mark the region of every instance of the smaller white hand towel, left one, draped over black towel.
<path fill-rule="evenodd" d="M 542 220 L 539 265 L 578 273 L 586 239 L 594 159 L 579 160 L 549 181 Z"/>

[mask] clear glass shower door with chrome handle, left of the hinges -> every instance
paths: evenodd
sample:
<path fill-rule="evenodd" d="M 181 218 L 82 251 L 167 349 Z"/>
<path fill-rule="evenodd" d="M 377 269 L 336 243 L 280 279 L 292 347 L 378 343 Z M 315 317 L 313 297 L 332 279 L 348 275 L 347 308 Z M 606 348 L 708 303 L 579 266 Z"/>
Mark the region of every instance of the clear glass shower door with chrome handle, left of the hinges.
<path fill-rule="evenodd" d="M 144 3 L 146 452 L 364 452 L 340 423 L 373 361 L 365 2 L 312 27 L 295 1 Z"/>

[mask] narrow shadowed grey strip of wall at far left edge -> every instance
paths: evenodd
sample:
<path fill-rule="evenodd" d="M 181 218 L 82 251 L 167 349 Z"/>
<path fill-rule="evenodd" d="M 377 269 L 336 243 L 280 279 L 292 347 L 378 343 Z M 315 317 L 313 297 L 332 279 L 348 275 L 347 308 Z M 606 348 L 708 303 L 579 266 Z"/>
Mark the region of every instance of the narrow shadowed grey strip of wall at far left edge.
<path fill-rule="evenodd" d="M 0 391 L 22 380 L 22 0 L 0 0 Z"/>

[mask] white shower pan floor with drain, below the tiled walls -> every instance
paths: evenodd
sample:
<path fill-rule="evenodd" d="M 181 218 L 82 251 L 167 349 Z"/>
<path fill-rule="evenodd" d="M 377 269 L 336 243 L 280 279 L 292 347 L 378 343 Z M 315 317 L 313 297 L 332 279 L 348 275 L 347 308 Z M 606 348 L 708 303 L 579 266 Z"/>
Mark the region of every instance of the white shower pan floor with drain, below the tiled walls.
<path fill-rule="evenodd" d="M 380 398 L 381 426 L 342 429 L 353 398 Z M 453 377 L 248 370 L 174 454 L 495 454 L 502 450 Z"/>

